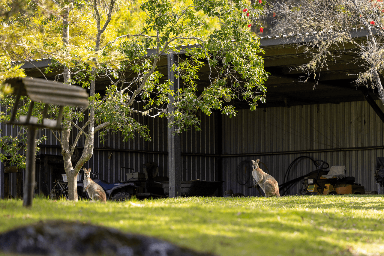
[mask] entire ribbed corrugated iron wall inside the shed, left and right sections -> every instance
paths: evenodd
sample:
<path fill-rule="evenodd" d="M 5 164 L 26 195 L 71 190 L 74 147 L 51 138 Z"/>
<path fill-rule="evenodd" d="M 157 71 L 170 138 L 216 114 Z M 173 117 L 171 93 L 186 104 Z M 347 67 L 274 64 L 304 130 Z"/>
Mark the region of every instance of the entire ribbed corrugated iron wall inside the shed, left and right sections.
<path fill-rule="evenodd" d="M 382 108 L 380 101 L 377 104 Z M 238 116 L 232 119 L 223 116 L 221 138 L 217 138 L 218 114 L 202 115 L 202 131 L 188 130 L 180 135 L 182 180 L 218 180 L 218 167 L 222 165 L 224 190 L 258 195 L 255 188 L 248 188 L 253 185 L 251 159 L 260 159 L 260 167 L 264 171 L 269 170 L 282 183 L 291 162 L 306 155 L 324 160 L 329 165 L 346 165 L 347 175 L 354 176 L 356 183 L 364 185 L 366 190 L 377 190 L 372 174 L 376 157 L 384 155 L 384 127 L 369 104 L 364 101 L 346 102 L 273 107 L 265 111 L 240 110 Z M 166 119 L 137 118 L 149 126 L 151 142 L 138 136 L 123 142 L 119 132 L 109 134 L 105 144 L 96 140 L 94 155 L 84 167 L 102 173 L 100 178 L 108 182 L 125 180 L 127 172 L 142 172 L 142 165 L 147 162 L 155 162 L 159 165 L 159 175 L 167 175 Z M 2 135 L 16 135 L 20 128 L 0 123 L 0 129 Z M 43 134 L 48 136 L 48 140 L 40 147 L 38 154 L 60 155 L 60 144 L 51 131 L 39 132 L 40 136 Z M 220 149 L 218 139 L 221 139 Z M 79 154 L 82 146 L 83 139 L 80 139 Z M 218 154 L 223 155 L 221 162 L 218 161 Z M 291 169 L 288 180 L 315 169 L 310 160 L 301 159 Z M 300 184 L 292 187 L 289 193 L 298 193 L 300 187 Z M 13 190 L 15 188 L 12 187 Z"/>

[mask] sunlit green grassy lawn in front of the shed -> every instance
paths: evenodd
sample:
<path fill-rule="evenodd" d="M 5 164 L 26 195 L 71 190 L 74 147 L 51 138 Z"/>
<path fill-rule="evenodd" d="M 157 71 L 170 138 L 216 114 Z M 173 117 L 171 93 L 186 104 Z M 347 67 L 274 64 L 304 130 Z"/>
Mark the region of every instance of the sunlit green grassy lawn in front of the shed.
<path fill-rule="evenodd" d="M 125 203 L 0 200 L 0 231 L 79 220 L 220 256 L 384 255 L 381 195 L 190 197 Z"/>

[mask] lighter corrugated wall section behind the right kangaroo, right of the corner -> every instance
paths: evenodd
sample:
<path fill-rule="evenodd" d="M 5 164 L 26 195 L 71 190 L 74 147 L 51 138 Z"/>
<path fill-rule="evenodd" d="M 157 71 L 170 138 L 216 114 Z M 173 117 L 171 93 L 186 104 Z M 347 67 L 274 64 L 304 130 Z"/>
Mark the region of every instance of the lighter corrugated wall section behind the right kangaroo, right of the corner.
<path fill-rule="evenodd" d="M 376 103 L 382 108 L 380 101 Z M 265 164 L 260 168 L 268 168 L 281 184 L 288 166 L 302 155 L 331 166 L 346 165 L 347 175 L 355 177 L 356 183 L 364 185 L 366 191 L 377 190 L 373 172 L 376 157 L 384 156 L 384 127 L 367 102 L 273 107 L 265 111 L 241 110 L 236 118 L 223 119 L 225 190 L 258 195 L 255 188 L 248 188 L 253 185 L 252 178 L 240 185 L 250 175 L 245 168 L 251 166 L 251 159 L 260 159 Z M 316 168 L 310 160 L 301 159 L 287 180 L 313 170 Z M 300 188 L 298 184 L 289 193 L 296 194 Z"/>

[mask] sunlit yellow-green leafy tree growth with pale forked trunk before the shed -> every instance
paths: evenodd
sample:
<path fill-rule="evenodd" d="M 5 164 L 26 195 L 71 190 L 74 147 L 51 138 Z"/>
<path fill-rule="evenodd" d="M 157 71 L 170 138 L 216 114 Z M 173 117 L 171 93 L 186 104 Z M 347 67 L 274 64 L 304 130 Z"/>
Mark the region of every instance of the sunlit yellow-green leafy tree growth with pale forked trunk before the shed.
<path fill-rule="evenodd" d="M 136 133 L 150 140 L 148 127 L 140 124 L 134 113 L 168 118 L 180 132 L 189 127 L 199 130 L 199 111 L 209 115 L 219 110 L 235 116 L 235 107 L 223 104 L 224 97 L 247 101 L 251 110 L 258 101 L 265 102 L 267 73 L 258 55 L 262 49 L 259 38 L 250 31 L 251 20 L 262 14 L 261 4 L 250 6 L 245 0 L 81 0 L 54 4 L 28 0 L 26 7 L 13 12 L 12 3 L 5 3 L 0 51 L 8 68 L 3 70 L 15 69 L 10 60 L 51 58 L 46 74 L 56 72 L 57 80 L 63 78 L 65 83 L 89 90 L 89 109 L 67 107 L 64 129 L 61 134 L 54 133 L 61 143 L 73 200 L 77 199 L 76 175 L 93 154 L 95 132 L 101 139 L 108 132 L 120 131 L 124 140 Z M 180 88 L 175 91 L 157 69 L 161 56 L 170 53 L 179 59 L 172 67 L 180 79 Z M 204 88 L 198 86 L 200 69 L 209 70 Z M 4 73 L 2 79 L 13 75 Z M 109 81 L 103 92 L 95 90 L 98 79 Z M 174 102 L 169 95 L 174 96 Z M 20 114 L 26 107 L 27 99 Z M 42 107 L 37 104 L 36 113 Z M 57 110 L 52 108 L 49 113 L 54 116 Z M 85 124 L 80 127 L 78 121 L 82 120 Z M 78 134 L 70 141 L 73 129 Z M 83 154 L 73 167 L 71 155 L 81 136 L 85 136 Z"/>

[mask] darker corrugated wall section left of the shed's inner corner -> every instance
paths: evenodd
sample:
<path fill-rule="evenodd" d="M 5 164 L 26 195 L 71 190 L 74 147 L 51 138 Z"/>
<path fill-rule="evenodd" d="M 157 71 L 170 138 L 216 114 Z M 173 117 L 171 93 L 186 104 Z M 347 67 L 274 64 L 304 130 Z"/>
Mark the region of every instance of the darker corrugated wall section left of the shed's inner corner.
<path fill-rule="evenodd" d="M 105 136 L 105 143 L 98 140 L 98 133 L 95 134 L 93 157 L 84 165 L 92 168 L 93 172 L 101 173 L 99 178 L 108 182 L 126 180 L 126 173 L 143 172 L 142 166 L 147 162 L 154 162 L 159 166 L 159 175 L 168 175 L 168 137 L 167 119 L 143 117 L 137 115 L 136 120 L 141 124 L 149 126 L 151 131 L 151 141 L 145 141 L 138 135 L 134 139 L 123 142 L 121 132 L 111 133 Z M 182 152 L 182 180 L 215 180 L 216 160 L 215 154 L 215 114 L 211 116 L 202 115 L 201 131 L 187 130 L 182 132 L 181 152 Z M 81 127 L 84 122 L 78 125 Z M 17 135 L 20 127 L 12 127 L 0 123 L 3 135 Z M 76 137 L 77 130 L 71 132 L 71 143 Z M 61 155 L 61 147 L 50 130 L 38 131 L 38 137 L 46 135 L 48 139 L 40 145 L 40 155 Z M 57 132 L 56 132 L 56 136 Z M 81 155 L 84 146 L 84 137 L 77 143 L 77 155 Z M 76 154 L 75 154 L 76 155 Z M 44 159 L 42 158 L 41 161 Z M 3 165 L 2 165 L 3 167 Z M 121 168 L 126 167 L 126 168 Z M 43 167 L 36 168 L 38 172 Z M 55 170 L 50 172 L 60 172 L 65 174 L 60 165 L 55 165 Z M 127 169 L 131 168 L 131 169 Z M 38 177 L 39 178 L 39 177 Z M 12 187 L 12 184 L 11 184 Z M 15 190 L 14 186 L 12 190 Z"/>

